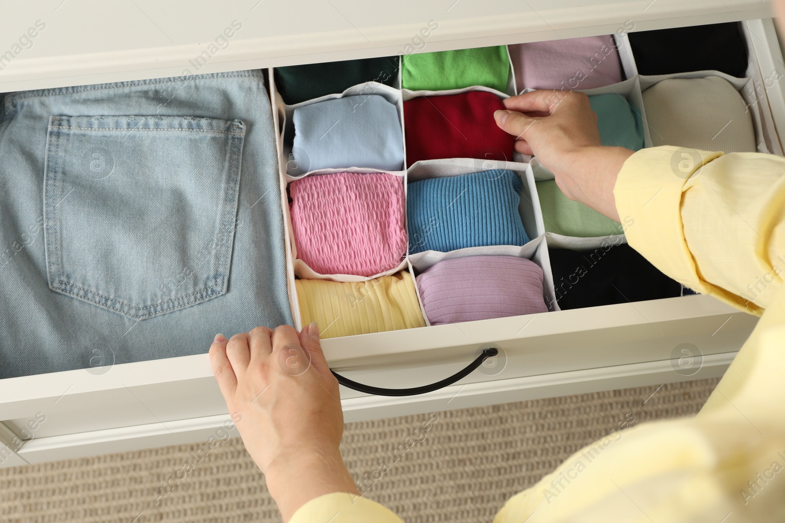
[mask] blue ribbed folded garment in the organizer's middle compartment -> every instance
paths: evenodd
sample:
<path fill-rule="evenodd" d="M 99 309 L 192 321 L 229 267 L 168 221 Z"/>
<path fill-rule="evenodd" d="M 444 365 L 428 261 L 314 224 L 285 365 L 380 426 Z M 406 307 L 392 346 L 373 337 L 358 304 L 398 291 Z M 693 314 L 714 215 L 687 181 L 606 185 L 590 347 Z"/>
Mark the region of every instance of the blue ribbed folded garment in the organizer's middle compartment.
<path fill-rule="evenodd" d="M 409 183 L 409 252 L 524 245 L 522 187 L 517 173 L 506 169 Z"/>

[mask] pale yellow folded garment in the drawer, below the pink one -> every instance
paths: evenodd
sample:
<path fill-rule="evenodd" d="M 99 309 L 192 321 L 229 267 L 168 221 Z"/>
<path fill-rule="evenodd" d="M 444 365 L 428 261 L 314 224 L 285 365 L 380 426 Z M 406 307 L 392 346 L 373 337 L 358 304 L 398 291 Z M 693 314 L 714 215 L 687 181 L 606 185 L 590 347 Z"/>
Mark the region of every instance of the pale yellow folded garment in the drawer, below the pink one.
<path fill-rule="evenodd" d="M 368 281 L 296 280 L 302 324 L 322 338 L 425 327 L 408 271 Z"/>

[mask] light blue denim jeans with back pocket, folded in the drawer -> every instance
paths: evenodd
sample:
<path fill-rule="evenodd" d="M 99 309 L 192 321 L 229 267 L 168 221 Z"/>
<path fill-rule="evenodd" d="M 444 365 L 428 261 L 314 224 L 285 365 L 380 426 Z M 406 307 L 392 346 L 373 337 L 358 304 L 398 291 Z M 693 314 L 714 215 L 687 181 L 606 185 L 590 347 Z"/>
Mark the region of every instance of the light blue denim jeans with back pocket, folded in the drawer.
<path fill-rule="evenodd" d="M 292 324 L 261 71 L 5 96 L 0 378 Z"/>

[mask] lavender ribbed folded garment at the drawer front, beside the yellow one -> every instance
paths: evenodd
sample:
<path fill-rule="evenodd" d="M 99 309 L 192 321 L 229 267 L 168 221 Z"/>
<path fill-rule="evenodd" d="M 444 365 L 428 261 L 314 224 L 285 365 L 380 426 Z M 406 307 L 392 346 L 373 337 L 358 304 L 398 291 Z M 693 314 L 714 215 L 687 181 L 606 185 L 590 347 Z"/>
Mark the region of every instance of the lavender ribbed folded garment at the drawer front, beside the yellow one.
<path fill-rule="evenodd" d="M 417 277 L 431 325 L 547 312 L 542 269 L 515 256 L 442 260 Z"/>

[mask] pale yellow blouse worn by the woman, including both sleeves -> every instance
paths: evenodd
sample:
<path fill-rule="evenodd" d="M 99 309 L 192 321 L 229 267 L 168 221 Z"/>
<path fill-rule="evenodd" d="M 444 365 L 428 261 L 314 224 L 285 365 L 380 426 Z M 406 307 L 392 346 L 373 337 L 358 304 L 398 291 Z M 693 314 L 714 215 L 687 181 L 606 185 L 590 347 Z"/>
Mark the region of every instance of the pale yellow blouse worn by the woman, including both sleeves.
<path fill-rule="evenodd" d="M 494 523 L 785 521 L 783 173 L 785 158 L 774 155 L 670 146 L 625 162 L 614 194 L 619 216 L 633 220 L 630 245 L 671 278 L 761 320 L 698 416 L 589 445 L 510 498 Z M 401 520 L 333 493 L 290 521 Z"/>

